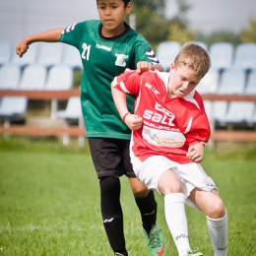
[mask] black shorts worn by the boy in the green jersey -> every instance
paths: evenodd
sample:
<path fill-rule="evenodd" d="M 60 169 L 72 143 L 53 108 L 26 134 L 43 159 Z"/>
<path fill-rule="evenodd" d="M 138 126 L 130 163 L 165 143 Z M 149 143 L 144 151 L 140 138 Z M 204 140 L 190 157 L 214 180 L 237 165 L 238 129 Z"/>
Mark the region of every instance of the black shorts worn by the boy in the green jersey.
<path fill-rule="evenodd" d="M 97 177 L 136 177 L 130 159 L 130 140 L 88 138 Z"/>

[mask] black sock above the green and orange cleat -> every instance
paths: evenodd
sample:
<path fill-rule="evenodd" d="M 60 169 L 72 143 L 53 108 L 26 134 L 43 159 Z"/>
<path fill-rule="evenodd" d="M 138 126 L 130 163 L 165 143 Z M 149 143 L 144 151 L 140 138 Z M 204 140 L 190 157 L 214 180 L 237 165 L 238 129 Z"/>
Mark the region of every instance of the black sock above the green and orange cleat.
<path fill-rule="evenodd" d="M 135 201 L 141 212 L 143 227 L 147 233 L 150 233 L 152 226 L 157 222 L 158 204 L 154 192 L 151 190 L 144 198 L 135 197 Z"/>

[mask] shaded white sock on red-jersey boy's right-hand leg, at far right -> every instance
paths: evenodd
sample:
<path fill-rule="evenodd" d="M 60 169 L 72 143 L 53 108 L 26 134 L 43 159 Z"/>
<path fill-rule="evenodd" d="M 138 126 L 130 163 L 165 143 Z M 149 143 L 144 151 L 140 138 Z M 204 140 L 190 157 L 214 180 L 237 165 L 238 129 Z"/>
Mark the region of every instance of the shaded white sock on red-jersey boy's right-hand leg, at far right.
<path fill-rule="evenodd" d="M 208 232 L 215 250 L 215 256 L 226 256 L 227 215 L 222 219 L 207 218 Z"/>

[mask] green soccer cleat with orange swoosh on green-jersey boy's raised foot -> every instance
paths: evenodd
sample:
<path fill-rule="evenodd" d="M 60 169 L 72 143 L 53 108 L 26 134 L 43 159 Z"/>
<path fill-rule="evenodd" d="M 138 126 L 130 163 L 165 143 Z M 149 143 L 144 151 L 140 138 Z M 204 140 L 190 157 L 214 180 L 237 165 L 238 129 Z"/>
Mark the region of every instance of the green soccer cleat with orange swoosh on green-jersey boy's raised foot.
<path fill-rule="evenodd" d="M 153 225 L 150 234 L 148 234 L 143 228 L 143 232 L 148 241 L 148 249 L 150 251 L 150 256 L 165 256 L 166 246 L 163 237 L 160 232 L 160 227 L 158 224 Z"/>

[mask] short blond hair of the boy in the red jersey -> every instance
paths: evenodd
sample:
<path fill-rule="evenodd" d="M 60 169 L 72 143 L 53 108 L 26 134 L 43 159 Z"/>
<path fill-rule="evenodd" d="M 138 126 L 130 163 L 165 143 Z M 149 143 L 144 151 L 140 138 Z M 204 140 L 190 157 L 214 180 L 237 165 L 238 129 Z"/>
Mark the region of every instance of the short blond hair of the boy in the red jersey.
<path fill-rule="evenodd" d="M 194 42 L 187 42 L 182 46 L 174 63 L 176 67 L 181 64 L 184 65 L 201 78 L 211 67 L 211 59 L 207 51 Z"/>

